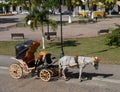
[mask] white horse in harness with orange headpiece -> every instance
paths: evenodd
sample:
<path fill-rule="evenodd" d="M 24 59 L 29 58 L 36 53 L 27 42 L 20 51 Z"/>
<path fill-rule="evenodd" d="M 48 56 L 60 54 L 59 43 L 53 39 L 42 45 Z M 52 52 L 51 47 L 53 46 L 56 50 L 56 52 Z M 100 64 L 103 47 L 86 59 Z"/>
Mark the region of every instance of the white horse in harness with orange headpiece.
<path fill-rule="evenodd" d="M 83 68 L 88 64 L 92 64 L 95 69 L 98 69 L 99 61 L 100 59 L 98 59 L 98 57 L 63 56 L 59 59 L 60 76 L 63 75 L 63 77 L 67 79 L 65 75 L 65 70 L 68 67 L 77 66 L 79 68 L 79 80 L 82 81 L 81 75 Z"/>

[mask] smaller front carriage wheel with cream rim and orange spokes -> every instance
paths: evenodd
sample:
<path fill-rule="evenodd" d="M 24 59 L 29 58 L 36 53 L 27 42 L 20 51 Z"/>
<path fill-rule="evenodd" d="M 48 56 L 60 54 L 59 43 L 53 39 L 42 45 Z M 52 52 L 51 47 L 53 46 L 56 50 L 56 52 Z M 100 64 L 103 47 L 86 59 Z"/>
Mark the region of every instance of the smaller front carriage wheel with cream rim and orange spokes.
<path fill-rule="evenodd" d="M 49 72 L 49 70 L 46 70 L 46 69 L 42 69 L 39 73 L 40 75 L 40 79 L 43 80 L 43 81 L 49 81 L 51 79 L 51 74 Z"/>

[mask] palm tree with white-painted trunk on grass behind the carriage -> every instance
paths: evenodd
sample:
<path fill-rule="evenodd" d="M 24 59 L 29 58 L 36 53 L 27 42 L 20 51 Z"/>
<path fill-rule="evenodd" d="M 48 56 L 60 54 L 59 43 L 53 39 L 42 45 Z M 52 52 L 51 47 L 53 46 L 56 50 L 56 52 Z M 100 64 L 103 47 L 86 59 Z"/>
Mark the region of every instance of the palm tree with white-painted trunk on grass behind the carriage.
<path fill-rule="evenodd" d="M 30 27 L 34 30 L 40 25 L 42 31 L 42 47 L 45 49 L 45 35 L 44 26 L 49 24 L 53 30 L 57 29 L 57 23 L 54 20 L 48 19 L 47 15 L 49 11 L 46 9 L 39 10 L 38 8 L 33 8 L 33 11 L 25 17 L 26 24 L 30 21 Z"/>

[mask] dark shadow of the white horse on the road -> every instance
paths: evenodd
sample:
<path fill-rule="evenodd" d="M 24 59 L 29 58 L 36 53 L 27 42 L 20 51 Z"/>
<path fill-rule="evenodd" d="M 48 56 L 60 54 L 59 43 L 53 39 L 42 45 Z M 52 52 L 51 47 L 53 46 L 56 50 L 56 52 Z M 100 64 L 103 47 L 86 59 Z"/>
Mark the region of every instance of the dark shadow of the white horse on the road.
<path fill-rule="evenodd" d="M 73 72 L 67 72 L 66 76 L 69 79 L 77 79 L 79 78 L 79 73 L 73 73 Z M 113 76 L 113 74 L 103 74 L 103 73 L 82 73 L 82 79 L 83 80 L 92 80 L 93 77 L 102 77 L 102 78 L 108 78 L 110 76 Z"/>

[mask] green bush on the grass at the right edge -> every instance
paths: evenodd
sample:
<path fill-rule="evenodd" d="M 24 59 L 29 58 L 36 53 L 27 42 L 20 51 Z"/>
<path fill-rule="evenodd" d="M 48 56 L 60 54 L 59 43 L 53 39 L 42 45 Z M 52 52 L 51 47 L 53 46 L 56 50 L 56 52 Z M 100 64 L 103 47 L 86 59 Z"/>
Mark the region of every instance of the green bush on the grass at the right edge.
<path fill-rule="evenodd" d="M 120 46 L 120 26 L 105 37 L 105 44 L 109 46 Z"/>

